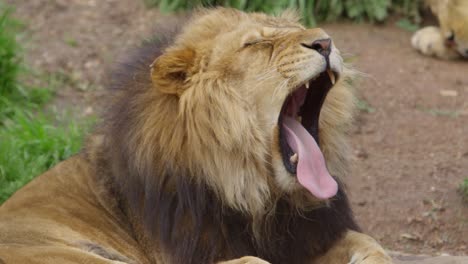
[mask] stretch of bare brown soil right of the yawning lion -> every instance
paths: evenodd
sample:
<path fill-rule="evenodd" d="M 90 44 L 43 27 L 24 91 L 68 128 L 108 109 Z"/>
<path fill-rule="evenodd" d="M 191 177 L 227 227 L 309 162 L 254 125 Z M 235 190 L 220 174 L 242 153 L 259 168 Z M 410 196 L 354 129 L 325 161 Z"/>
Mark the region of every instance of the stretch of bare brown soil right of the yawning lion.
<path fill-rule="evenodd" d="M 359 92 L 375 109 L 352 136 L 359 222 L 393 250 L 467 254 L 468 63 L 423 57 L 394 26 L 325 28 L 368 74 Z"/>

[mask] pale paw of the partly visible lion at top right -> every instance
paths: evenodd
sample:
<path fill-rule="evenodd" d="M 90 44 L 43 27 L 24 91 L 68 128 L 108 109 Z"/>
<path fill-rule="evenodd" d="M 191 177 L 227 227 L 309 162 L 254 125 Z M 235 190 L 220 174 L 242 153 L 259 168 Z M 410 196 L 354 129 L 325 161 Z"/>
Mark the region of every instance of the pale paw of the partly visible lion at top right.
<path fill-rule="evenodd" d="M 454 59 L 458 55 L 445 45 L 445 38 L 438 27 L 425 27 L 411 38 L 411 45 L 424 55 L 435 56 L 442 59 Z"/>

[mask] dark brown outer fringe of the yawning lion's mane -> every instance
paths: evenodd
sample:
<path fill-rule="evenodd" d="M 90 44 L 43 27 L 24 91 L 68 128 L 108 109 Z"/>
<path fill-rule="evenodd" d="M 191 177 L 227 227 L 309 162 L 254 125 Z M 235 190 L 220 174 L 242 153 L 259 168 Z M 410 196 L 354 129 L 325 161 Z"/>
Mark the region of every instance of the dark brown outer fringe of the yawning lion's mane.
<path fill-rule="evenodd" d="M 122 209 L 147 251 L 160 247 L 171 263 L 214 263 L 244 255 L 271 263 L 303 263 L 325 252 L 346 230 L 357 230 L 342 186 L 327 207 L 298 211 L 283 197 L 271 214 L 254 220 L 223 205 L 210 187 L 194 180 L 200 175 L 190 175 L 184 164 L 163 162 L 157 144 L 130 145 L 139 107 L 149 102 L 129 102 L 154 89 L 149 65 L 175 34 L 147 42 L 116 71 L 103 126 L 106 166 Z M 138 147 L 152 148 L 152 162 L 135 163 Z"/>

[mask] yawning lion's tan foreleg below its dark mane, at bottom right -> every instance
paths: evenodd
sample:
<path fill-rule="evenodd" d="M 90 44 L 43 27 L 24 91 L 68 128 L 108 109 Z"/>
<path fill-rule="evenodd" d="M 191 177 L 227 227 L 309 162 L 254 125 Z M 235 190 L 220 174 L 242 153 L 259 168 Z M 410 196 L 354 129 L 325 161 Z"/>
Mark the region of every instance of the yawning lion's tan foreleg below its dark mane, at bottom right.
<path fill-rule="evenodd" d="M 320 264 L 390 264 L 392 259 L 372 237 L 348 231 L 325 255 L 313 263 Z"/>

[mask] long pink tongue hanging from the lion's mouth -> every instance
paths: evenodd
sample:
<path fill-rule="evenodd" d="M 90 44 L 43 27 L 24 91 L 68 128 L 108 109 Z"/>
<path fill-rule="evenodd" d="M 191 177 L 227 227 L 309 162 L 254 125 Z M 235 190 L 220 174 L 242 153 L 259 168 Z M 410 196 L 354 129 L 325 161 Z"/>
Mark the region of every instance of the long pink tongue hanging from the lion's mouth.
<path fill-rule="evenodd" d="M 283 126 L 289 146 L 299 156 L 296 173 L 299 183 L 319 199 L 335 196 L 338 184 L 328 172 L 315 139 L 289 116 L 283 116 Z"/>

